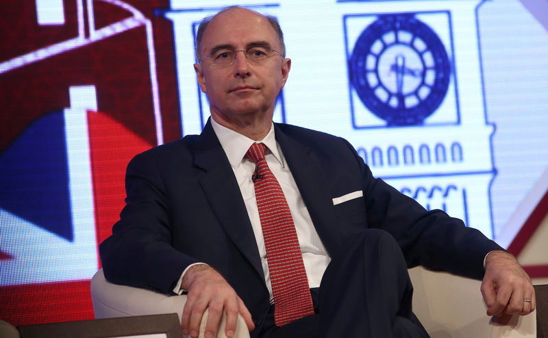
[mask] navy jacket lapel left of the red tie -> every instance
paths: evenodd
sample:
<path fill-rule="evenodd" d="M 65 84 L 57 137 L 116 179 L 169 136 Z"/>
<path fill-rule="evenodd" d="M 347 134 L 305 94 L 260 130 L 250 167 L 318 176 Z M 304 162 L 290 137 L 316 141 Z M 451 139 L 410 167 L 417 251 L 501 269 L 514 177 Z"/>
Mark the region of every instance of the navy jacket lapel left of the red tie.
<path fill-rule="evenodd" d="M 264 276 L 240 188 L 209 121 L 197 141 L 195 165 L 206 171 L 199 182 L 221 226 L 258 274 Z"/>

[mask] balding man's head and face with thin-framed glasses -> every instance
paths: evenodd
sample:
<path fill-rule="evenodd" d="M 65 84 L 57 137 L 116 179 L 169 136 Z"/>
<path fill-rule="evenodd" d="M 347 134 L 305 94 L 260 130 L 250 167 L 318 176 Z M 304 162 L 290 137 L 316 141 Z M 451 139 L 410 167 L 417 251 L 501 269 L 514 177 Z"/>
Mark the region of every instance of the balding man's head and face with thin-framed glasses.
<path fill-rule="evenodd" d="M 201 67 L 195 64 L 195 71 L 201 90 L 208 95 L 213 117 L 229 122 L 245 119 L 249 114 L 272 119 L 276 97 L 289 73 L 289 59 L 274 53 L 259 64 L 251 64 L 245 53 L 238 51 L 234 64 L 219 67 L 213 58 L 204 57 L 221 46 L 247 50 L 258 43 L 280 49 L 269 21 L 255 12 L 227 10 L 209 23 L 201 41 Z"/>

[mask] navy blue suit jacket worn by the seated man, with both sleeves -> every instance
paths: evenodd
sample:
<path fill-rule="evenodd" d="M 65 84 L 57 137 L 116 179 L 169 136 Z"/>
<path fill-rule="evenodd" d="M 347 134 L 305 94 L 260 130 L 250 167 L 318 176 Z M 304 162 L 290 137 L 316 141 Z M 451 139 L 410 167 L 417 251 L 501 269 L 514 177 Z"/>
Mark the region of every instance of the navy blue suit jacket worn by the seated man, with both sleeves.
<path fill-rule="evenodd" d="M 483 259 L 499 246 L 440 210 L 427 211 L 384 181 L 343 138 L 275 123 L 275 136 L 327 252 L 367 228 L 397 240 L 409 267 L 424 265 L 482 278 Z M 126 173 L 126 206 L 100 246 L 112 282 L 171 292 L 191 263 L 217 269 L 256 324 L 269 292 L 256 240 L 227 156 L 208 122 L 197 136 L 136 156 Z M 364 196 L 334 206 L 354 191 Z M 255 330 L 254 332 L 256 332 Z"/>

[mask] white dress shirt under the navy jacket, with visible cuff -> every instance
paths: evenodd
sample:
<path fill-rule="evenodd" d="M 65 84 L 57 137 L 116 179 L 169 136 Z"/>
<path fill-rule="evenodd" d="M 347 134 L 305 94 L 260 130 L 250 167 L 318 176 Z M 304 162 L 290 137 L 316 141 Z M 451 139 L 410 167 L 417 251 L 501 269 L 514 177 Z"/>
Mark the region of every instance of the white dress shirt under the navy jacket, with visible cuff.
<path fill-rule="evenodd" d="M 253 227 L 253 233 L 255 234 L 255 239 L 257 241 L 262 270 L 264 272 L 264 280 L 272 300 L 269 263 L 266 259 L 266 248 L 264 246 L 259 210 L 255 197 L 255 186 L 253 185 L 253 180 L 251 180 L 251 176 L 255 171 L 255 163 L 245 157 L 247 150 L 255 141 L 234 130 L 223 127 L 213 119 L 210 119 L 210 121 L 213 130 L 227 155 L 232 170 L 234 171 L 234 176 L 236 176 L 238 186 L 240 187 L 242 198 L 245 202 L 245 207 L 247 208 L 247 214 L 251 220 L 251 226 Z M 293 217 L 299 245 L 303 254 L 306 276 L 308 276 L 308 286 L 319 287 L 323 273 L 331 261 L 331 258 L 329 258 L 327 250 L 325 250 L 325 246 L 321 242 L 321 239 L 316 232 L 316 228 L 314 228 L 314 225 L 312 224 L 312 219 L 310 219 L 310 214 L 304 204 L 303 197 L 301 197 L 295 179 L 285 162 L 284 154 L 282 154 L 282 151 L 279 149 L 279 145 L 276 142 L 274 125 L 271 125 L 269 134 L 267 134 L 259 143 L 264 143 L 268 148 L 266 149 L 264 158 L 278 180 L 279 185 L 282 187 L 282 191 L 284 191 L 289 210 Z M 181 278 L 179 278 L 179 282 L 174 288 L 174 291 L 176 290 L 175 292 L 179 291 L 182 277 L 187 270 L 188 267 L 183 272 Z M 179 291 L 177 293 L 181 292 Z"/>

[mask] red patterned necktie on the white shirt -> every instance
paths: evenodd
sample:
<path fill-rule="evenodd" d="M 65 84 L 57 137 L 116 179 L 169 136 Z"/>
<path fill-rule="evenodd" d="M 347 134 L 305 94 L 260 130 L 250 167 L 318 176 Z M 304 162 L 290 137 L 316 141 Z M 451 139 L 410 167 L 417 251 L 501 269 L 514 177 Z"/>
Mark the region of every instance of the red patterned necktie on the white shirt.
<path fill-rule="evenodd" d="M 253 143 L 246 156 L 256 164 L 253 184 L 269 262 L 274 320 L 277 326 L 284 326 L 313 315 L 314 306 L 295 224 L 284 192 L 266 164 L 265 149 L 264 144 Z"/>

